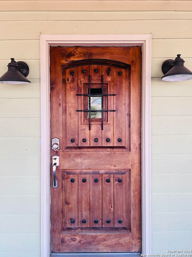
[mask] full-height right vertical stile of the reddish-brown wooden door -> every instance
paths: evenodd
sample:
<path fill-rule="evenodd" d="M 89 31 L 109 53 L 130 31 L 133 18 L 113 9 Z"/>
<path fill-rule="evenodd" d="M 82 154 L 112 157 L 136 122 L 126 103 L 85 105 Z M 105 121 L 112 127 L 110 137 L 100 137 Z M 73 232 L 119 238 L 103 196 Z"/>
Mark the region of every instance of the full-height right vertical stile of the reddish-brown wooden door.
<path fill-rule="evenodd" d="M 131 55 L 131 248 L 141 250 L 141 49 L 131 48 Z"/>

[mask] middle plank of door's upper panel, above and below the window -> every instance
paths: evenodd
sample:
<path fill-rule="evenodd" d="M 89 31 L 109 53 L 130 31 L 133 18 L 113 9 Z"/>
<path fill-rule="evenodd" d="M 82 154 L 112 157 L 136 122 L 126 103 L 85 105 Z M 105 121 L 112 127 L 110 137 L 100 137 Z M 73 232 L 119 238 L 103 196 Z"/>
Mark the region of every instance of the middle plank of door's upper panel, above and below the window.
<path fill-rule="evenodd" d="M 94 72 L 97 69 L 98 72 Z M 101 83 L 102 67 L 101 65 L 90 65 L 90 74 L 91 74 L 91 83 L 99 82 Z M 94 139 L 98 139 L 98 142 L 95 142 Z M 102 142 L 102 130 L 101 122 L 100 124 L 93 124 L 91 122 L 90 130 L 90 146 L 101 146 Z"/>

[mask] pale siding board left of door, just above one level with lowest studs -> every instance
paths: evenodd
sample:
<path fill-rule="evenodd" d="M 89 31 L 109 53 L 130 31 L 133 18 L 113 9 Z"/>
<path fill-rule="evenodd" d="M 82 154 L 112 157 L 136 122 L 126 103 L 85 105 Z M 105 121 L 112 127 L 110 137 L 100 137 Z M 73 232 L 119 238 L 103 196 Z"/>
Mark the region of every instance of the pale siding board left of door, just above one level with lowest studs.
<path fill-rule="evenodd" d="M 40 214 L 41 196 L 35 193 L 34 195 L 0 195 L 0 214 Z"/>

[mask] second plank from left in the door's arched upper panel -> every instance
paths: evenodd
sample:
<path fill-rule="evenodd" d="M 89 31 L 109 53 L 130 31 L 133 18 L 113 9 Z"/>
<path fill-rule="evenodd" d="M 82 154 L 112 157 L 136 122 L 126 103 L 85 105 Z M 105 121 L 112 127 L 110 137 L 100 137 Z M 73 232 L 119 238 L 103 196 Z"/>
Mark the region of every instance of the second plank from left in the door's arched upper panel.
<path fill-rule="evenodd" d="M 86 70 L 86 73 L 82 73 L 82 70 Z M 85 94 L 85 88 L 83 82 L 88 83 L 89 75 L 89 65 L 79 66 L 78 67 L 78 94 Z M 85 106 L 85 96 L 78 96 L 78 110 L 87 109 Z M 90 146 L 90 131 L 89 125 L 83 124 L 85 113 L 83 111 L 78 112 L 78 126 L 79 126 L 79 135 L 78 135 L 78 146 Z M 82 139 L 86 139 L 86 142 L 83 142 Z"/>

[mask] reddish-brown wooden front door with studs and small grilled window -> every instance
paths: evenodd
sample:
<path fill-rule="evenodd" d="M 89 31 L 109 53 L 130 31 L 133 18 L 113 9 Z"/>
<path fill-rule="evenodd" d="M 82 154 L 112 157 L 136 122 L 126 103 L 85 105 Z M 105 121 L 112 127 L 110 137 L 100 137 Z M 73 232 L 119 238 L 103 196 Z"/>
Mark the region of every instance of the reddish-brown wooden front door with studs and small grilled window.
<path fill-rule="evenodd" d="M 141 252 L 141 47 L 51 47 L 50 77 L 51 252 Z"/>

